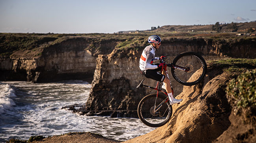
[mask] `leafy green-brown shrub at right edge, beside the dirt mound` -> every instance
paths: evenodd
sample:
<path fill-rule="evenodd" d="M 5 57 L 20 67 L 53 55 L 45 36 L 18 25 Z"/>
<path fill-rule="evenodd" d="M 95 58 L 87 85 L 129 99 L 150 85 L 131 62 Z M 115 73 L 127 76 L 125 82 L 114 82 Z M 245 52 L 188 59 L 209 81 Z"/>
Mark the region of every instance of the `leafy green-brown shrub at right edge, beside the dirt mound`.
<path fill-rule="evenodd" d="M 235 99 L 238 108 L 256 107 L 256 69 L 230 80 L 226 87 L 228 96 Z"/>

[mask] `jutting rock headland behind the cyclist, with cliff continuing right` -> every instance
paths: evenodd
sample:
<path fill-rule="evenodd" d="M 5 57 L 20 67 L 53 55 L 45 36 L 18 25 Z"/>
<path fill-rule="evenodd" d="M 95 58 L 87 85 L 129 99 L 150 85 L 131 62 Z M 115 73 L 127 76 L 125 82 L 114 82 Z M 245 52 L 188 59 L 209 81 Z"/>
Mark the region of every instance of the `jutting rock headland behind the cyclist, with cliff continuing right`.
<path fill-rule="evenodd" d="M 176 39 L 165 38 L 162 46 L 157 52 L 157 56 L 166 55 L 173 59 L 176 55 L 184 51 L 194 51 L 203 55 L 205 60 L 220 59 L 227 56 L 255 58 L 252 51 L 256 49 L 254 39 L 243 42 L 226 42 L 225 40 L 214 41 L 211 39 Z M 147 79 L 140 74 L 138 62 L 143 48 L 132 51 L 114 50 L 111 54 L 100 55 L 97 58 L 94 80 L 90 97 L 86 107 L 78 110 L 81 114 L 103 114 L 115 116 L 136 116 L 136 108 L 140 99 L 146 94 L 152 93 L 151 89 L 136 89 L 136 85 L 142 79 L 144 84 L 154 87 L 156 81 Z M 235 51 L 239 51 L 235 53 Z M 121 52 L 122 56 L 119 56 Z M 131 54 L 132 53 L 132 54 Z M 129 56 L 127 56 L 129 55 Z M 168 73 L 171 76 L 170 70 Z M 177 96 L 183 89 L 183 85 L 177 83 L 171 77 L 174 87 L 174 96 Z M 125 111 L 124 111 L 125 110 Z M 134 114 L 125 114 L 134 111 Z M 125 113 L 123 113 L 125 112 Z M 113 113 L 115 113 L 113 115 Z M 124 115 L 125 114 L 125 115 Z"/>

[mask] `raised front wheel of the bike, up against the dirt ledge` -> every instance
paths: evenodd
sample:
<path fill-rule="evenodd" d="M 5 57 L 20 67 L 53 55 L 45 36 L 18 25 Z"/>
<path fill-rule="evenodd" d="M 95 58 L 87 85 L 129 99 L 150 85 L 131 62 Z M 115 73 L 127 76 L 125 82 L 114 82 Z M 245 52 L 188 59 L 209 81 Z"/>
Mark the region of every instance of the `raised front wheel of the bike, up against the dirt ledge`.
<path fill-rule="evenodd" d="M 172 76 L 182 85 L 195 85 L 206 75 L 207 65 L 202 56 L 195 52 L 183 52 L 173 60 L 174 65 L 189 68 L 188 72 L 172 68 Z"/>

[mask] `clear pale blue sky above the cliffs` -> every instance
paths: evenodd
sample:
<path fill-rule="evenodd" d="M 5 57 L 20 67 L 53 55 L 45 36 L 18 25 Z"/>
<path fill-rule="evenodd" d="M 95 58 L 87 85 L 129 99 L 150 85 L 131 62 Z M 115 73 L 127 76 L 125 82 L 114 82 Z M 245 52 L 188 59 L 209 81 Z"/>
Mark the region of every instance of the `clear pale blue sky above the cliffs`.
<path fill-rule="evenodd" d="M 1 33 L 116 33 L 256 20 L 256 0 L 0 0 Z"/>

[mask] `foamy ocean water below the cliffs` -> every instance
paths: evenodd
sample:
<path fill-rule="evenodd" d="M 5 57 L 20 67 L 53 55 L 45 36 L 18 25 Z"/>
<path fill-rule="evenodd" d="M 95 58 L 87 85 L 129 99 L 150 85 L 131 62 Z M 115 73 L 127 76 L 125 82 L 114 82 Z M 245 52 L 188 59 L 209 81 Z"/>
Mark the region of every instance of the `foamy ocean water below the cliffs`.
<path fill-rule="evenodd" d="M 0 81 L 0 142 L 68 132 L 94 132 L 125 141 L 155 129 L 138 118 L 81 116 L 62 109 L 68 105 L 85 105 L 90 89 L 90 83 L 80 80 Z"/>

